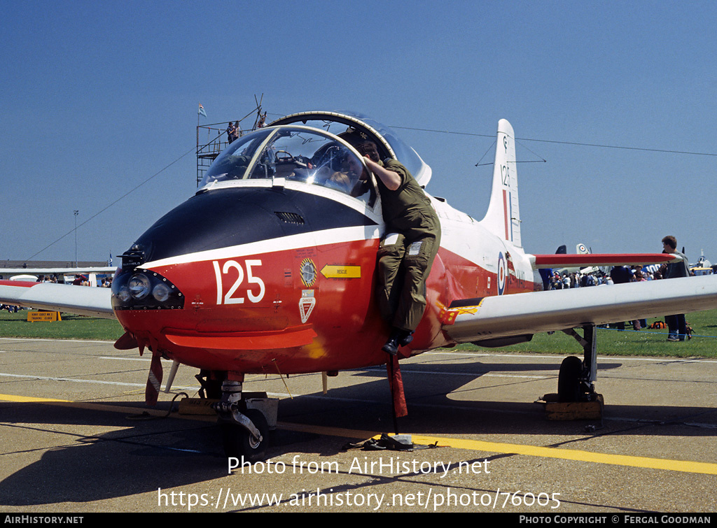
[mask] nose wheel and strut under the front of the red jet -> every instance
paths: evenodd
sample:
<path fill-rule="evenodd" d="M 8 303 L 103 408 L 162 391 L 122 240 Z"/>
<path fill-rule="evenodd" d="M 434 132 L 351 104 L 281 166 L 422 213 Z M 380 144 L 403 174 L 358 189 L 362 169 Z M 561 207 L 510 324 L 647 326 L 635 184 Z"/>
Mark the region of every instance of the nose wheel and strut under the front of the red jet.
<path fill-rule="evenodd" d="M 276 428 L 279 400 L 266 393 L 242 393 L 242 382 L 224 380 L 222 398 L 212 407 L 219 415 L 224 453 L 256 462 L 264 459 L 269 431 Z"/>

